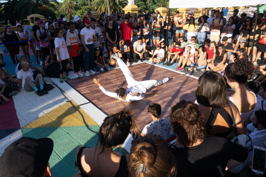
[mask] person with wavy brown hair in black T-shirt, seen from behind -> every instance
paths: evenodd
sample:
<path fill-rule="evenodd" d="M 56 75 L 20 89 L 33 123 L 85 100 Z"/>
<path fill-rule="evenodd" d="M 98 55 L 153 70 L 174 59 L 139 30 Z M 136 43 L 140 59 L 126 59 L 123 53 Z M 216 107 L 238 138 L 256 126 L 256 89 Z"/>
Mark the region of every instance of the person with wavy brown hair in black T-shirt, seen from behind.
<path fill-rule="evenodd" d="M 176 133 L 171 149 L 178 176 L 224 176 L 246 160 L 248 152 L 240 144 L 207 136 L 197 104 L 181 100 L 172 108 L 170 120 Z"/>

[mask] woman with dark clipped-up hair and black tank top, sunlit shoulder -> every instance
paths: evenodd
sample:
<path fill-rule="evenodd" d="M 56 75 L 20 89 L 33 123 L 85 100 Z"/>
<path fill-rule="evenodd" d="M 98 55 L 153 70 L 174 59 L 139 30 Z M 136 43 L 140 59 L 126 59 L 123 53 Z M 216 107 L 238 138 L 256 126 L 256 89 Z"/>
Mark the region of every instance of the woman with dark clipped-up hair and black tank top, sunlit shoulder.
<path fill-rule="evenodd" d="M 98 144 L 93 148 L 77 148 L 75 165 L 80 172 L 74 176 L 128 176 L 127 156 L 113 151 L 113 148 L 124 143 L 130 129 L 135 134 L 139 133 L 132 111 L 122 110 L 107 116 L 100 126 Z"/>

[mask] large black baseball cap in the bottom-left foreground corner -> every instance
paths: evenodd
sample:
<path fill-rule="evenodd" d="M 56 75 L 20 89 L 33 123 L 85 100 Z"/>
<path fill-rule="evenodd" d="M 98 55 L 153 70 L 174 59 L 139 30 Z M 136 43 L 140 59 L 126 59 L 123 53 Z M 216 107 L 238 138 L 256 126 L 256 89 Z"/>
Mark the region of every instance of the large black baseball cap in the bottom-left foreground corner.
<path fill-rule="evenodd" d="M 42 176 L 52 152 L 52 139 L 22 137 L 1 155 L 0 176 Z"/>

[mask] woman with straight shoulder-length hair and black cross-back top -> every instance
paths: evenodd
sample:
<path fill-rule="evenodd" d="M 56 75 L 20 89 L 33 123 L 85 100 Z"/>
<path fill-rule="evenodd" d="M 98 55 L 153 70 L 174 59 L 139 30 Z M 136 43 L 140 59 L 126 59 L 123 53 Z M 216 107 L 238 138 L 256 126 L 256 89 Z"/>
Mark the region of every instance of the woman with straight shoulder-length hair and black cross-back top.
<path fill-rule="evenodd" d="M 232 139 L 233 120 L 236 121 L 237 135 L 246 134 L 239 111 L 226 99 L 226 82 L 216 71 L 205 71 L 199 78 L 196 99 L 208 135 Z M 232 109 L 232 111 L 231 111 Z"/>

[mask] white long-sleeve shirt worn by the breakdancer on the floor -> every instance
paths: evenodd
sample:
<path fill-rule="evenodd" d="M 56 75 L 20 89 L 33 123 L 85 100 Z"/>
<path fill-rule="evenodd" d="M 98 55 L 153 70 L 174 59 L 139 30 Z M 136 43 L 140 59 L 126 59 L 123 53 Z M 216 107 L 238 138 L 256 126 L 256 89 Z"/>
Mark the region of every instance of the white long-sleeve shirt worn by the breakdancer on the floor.
<path fill-rule="evenodd" d="M 121 100 L 121 101 L 123 101 L 123 102 L 134 102 L 134 101 L 137 101 L 137 100 L 141 100 L 141 99 L 143 99 L 143 98 L 145 97 L 145 95 L 144 95 L 144 94 L 141 94 L 141 93 L 140 93 L 140 90 L 139 90 L 137 87 L 135 87 L 135 86 L 129 87 L 129 88 L 126 90 L 126 100 L 121 99 L 121 98 L 118 97 L 117 94 L 114 93 L 114 92 L 107 91 L 105 88 L 103 88 L 103 86 L 100 86 L 99 88 L 101 89 L 101 91 L 102 91 L 104 94 L 106 94 L 106 95 L 108 95 L 108 96 L 111 96 L 111 97 L 113 97 L 113 98 L 119 99 L 119 100 Z M 136 93 L 140 93 L 140 96 L 131 95 L 131 94 L 134 93 L 134 92 L 136 92 Z"/>

